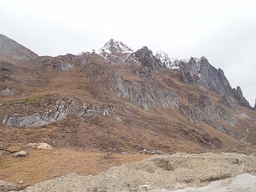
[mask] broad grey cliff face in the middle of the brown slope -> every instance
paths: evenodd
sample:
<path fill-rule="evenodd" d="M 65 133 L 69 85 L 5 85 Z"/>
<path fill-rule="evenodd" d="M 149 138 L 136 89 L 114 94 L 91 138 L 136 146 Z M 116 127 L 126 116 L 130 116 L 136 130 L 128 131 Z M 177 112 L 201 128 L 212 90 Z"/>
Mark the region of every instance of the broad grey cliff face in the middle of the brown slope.
<path fill-rule="evenodd" d="M 125 80 L 119 75 L 112 75 L 111 85 L 119 97 L 129 100 L 148 111 L 150 105 L 174 108 L 178 106 L 176 92 L 166 89 L 156 81 L 139 82 Z"/>

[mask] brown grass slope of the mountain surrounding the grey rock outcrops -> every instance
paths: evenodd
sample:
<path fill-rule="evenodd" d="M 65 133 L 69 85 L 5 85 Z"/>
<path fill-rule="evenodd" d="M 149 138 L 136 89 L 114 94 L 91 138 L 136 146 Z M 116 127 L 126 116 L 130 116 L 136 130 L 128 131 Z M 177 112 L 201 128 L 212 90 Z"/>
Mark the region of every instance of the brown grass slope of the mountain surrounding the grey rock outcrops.
<path fill-rule="evenodd" d="M 81 105 L 82 102 L 111 105 L 114 113 L 122 117 L 122 122 L 108 115 L 92 114 L 83 118 L 69 115 L 38 129 L 15 128 L 1 123 L 2 148 L 13 144 L 46 142 L 59 148 L 74 147 L 87 151 L 206 151 L 227 147 L 240 149 L 255 144 L 255 126 L 252 126 L 256 117 L 254 111 L 244 107 L 240 107 L 240 112 L 227 109 L 232 117 L 238 119 L 236 126 L 230 127 L 235 137 L 209 124 L 192 122 L 175 108 L 151 105 L 150 110 L 145 111 L 118 97 L 110 82 L 110 75 L 114 73 L 126 80 L 147 83 L 148 78 L 134 73 L 137 65 L 117 65 L 95 53 L 87 54 L 87 59 L 90 68 L 82 68 L 81 59 L 76 56 L 70 61 L 73 68 L 63 71 L 54 68 L 51 57 L 24 62 L 2 56 L 0 90 L 10 87 L 12 94 L 0 96 L 0 122 L 9 114 L 24 116 L 45 112 L 48 108 L 42 103 L 51 106 L 57 98 L 73 98 Z M 201 90 L 181 82 L 178 73 L 162 69 L 153 71 L 153 76 L 159 85 L 177 92 L 181 103 L 197 105 Z M 217 93 L 207 90 L 204 94 L 225 107 Z M 240 117 L 241 113 L 249 115 L 250 119 Z"/>

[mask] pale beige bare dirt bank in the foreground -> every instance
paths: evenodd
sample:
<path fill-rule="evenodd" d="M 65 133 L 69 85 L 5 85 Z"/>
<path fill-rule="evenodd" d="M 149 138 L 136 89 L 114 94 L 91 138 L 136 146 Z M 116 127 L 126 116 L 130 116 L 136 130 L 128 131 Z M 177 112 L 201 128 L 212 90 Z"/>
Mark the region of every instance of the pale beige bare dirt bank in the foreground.
<path fill-rule="evenodd" d="M 255 166 L 255 154 L 176 153 L 114 166 L 95 176 L 60 176 L 36 183 L 24 191 L 173 191 L 188 186 L 206 186 L 211 181 L 243 173 L 254 175 Z"/>

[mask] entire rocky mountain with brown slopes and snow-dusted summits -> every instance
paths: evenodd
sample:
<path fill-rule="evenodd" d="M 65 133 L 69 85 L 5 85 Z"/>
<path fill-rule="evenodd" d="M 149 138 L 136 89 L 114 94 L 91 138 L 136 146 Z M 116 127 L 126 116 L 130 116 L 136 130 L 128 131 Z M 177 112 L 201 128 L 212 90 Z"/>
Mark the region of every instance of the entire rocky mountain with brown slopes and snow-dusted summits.
<path fill-rule="evenodd" d="M 38 56 L 1 39 L 0 129 L 10 141 L 114 151 L 256 144 L 255 107 L 204 56 L 176 60 L 114 39 L 97 51 Z M 45 137 L 44 128 L 54 131 Z"/>

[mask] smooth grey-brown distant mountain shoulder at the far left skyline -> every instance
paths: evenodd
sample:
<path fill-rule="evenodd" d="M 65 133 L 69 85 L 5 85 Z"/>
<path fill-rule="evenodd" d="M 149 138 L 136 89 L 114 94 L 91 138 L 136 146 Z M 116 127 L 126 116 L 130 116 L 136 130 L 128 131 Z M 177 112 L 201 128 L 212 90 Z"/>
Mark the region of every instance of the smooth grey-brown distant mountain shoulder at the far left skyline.
<path fill-rule="evenodd" d="M 38 55 L 33 51 L 21 46 L 16 41 L 0 34 L 0 53 L 16 59 L 16 60 L 31 60 L 37 58 Z"/>

